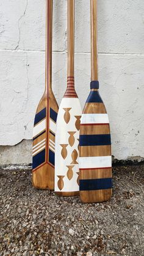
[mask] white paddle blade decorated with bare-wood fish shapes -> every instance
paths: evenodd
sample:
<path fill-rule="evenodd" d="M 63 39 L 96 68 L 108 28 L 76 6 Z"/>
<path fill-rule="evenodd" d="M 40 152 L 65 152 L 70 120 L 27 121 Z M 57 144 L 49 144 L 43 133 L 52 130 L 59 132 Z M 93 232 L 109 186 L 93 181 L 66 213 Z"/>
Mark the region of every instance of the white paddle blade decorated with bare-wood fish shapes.
<path fill-rule="evenodd" d="M 79 126 L 82 109 L 77 98 L 63 98 L 57 115 L 55 191 L 79 194 Z"/>

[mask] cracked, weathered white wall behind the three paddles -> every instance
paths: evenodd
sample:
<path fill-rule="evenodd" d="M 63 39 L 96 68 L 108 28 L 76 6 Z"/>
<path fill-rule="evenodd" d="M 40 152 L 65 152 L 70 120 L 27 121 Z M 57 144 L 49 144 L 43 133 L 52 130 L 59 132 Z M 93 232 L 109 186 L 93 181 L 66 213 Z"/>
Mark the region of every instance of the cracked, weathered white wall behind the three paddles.
<path fill-rule="evenodd" d="M 67 1 L 54 0 L 52 87 L 67 81 Z M 75 81 L 82 107 L 90 84 L 90 0 L 76 0 Z M 112 154 L 144 157 L 143 0 L 98 0 L 100 93 Z M 1 164 L 31 161 L 35 110 L 45 87 L 45 0 L 0 0 Z M 19 144 L 23 139 L 23 143 Z M 15 149 L 2 146 L 14 146 Z"/>

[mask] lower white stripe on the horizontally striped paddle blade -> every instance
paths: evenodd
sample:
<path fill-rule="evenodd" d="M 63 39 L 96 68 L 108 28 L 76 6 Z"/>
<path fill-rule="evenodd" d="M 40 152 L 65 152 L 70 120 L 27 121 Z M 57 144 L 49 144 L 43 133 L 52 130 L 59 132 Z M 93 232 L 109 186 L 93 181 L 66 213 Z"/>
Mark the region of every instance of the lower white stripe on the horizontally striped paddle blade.
<path fill-rule="evenodd" d="M 112 166 L 112 156 L 79 157 L 79 168 L 104 168 Z"/>

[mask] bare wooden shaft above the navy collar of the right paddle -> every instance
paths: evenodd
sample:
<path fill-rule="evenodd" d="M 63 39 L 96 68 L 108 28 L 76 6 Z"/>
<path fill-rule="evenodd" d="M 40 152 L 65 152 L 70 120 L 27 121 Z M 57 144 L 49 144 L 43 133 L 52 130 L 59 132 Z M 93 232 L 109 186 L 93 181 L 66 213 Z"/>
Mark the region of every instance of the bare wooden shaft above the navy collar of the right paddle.
<path fill-rule="evenodd" d="M 97 0 L 90 0 L 91 14 L 91 81 L 98 80 L 98 43 L 97 43 Z"/>

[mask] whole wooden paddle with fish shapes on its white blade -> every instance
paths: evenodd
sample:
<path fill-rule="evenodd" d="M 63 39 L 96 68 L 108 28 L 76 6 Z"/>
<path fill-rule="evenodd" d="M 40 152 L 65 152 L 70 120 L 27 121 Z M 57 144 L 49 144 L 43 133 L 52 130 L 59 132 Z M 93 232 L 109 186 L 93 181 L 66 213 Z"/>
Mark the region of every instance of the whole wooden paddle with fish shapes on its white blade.
<path fill-rule="evenodd" d="M 68 0 L 67 90 L 57 115 L 55 191 L 59 196 L 79 194 L 79 126 L 81 105 L 74 89 L 74 0 Z"/>

